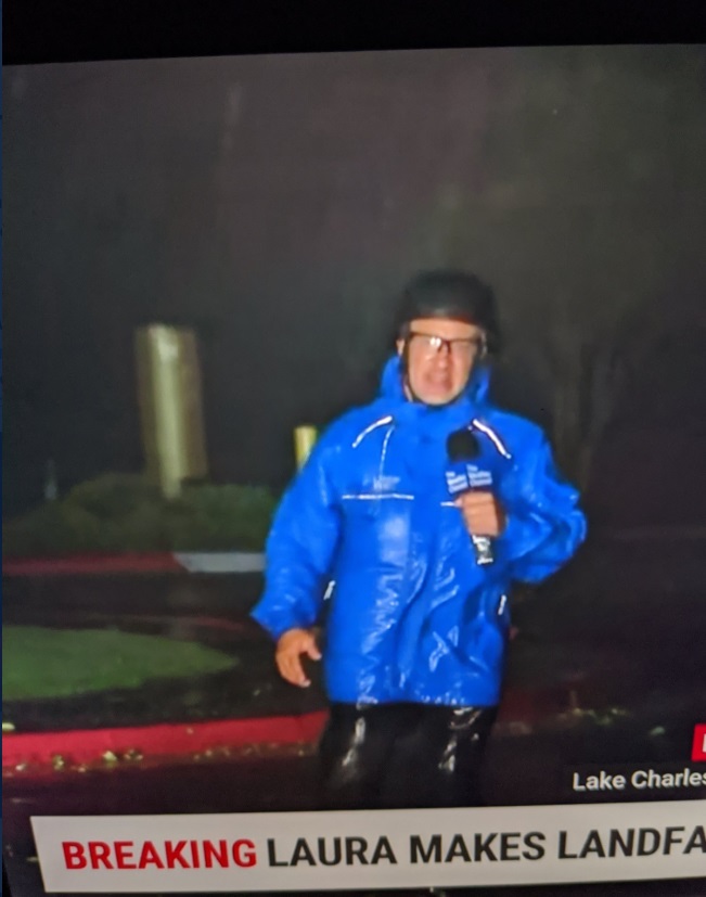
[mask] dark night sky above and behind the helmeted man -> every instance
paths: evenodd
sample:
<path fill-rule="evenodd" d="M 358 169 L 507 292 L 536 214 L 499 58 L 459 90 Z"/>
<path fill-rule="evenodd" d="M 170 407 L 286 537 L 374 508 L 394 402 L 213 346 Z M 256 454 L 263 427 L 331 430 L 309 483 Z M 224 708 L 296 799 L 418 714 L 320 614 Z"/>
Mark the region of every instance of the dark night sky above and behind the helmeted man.
<path fill-rule="evenodd" d="M 512 407 L 551 418 L 523 346 L 556 309 L 578 338 L 642 303 L 693 346 L 652 355 L 628 406 L 696 432 L 704 61 L 560 48 L 5 69 L 5 512 L 40 499 L 49 458 L 63 487 L 141 467 L 132 334 L 150 321 L 198 332 L 214 477 L 281 484 L 292 425 L 368 397 L 395 293 L 446 262 L 498 289 Z"/>

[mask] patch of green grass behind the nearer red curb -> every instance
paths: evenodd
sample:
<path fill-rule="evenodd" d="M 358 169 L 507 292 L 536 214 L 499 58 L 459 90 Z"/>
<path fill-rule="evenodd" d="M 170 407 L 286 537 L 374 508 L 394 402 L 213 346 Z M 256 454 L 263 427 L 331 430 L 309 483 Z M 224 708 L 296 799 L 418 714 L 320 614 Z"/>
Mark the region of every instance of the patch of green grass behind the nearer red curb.
<path fill-rule="evenodd" d="M 138 689 L 145 682 L 189 678 L 232 668 L 220 651 L 115 629 L 2 630 L 2 699 L 68 697 L 106 689 Z"/>

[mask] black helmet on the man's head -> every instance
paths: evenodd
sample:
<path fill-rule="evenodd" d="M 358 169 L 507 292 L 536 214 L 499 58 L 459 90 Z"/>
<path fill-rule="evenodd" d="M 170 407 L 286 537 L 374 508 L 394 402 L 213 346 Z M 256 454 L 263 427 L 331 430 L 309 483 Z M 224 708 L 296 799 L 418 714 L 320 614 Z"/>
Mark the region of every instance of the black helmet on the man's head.
<path fill-rule="evenodd" d="M 492 290 L 466 271 L 423 271 L 402 292 L 397 315 L 397 331 L 406 335 L 411 321 L 419 318 L 448 318 L 482 328 L 486 349 L 497 354 L 500 331 Z"/>

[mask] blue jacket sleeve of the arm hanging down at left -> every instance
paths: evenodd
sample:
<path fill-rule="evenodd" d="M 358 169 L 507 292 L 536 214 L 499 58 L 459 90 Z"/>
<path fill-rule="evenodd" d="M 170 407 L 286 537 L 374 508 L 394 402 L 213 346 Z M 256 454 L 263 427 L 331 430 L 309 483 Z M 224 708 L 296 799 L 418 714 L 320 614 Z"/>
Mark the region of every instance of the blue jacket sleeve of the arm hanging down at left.
<path fill-rule="evenodd" d="M 286 490 L 266 546 L 265 591 L 252 616 L 279 639 L 316 623 L 341 529 L 331 477 L 337 447 L 325 435 Z"/>

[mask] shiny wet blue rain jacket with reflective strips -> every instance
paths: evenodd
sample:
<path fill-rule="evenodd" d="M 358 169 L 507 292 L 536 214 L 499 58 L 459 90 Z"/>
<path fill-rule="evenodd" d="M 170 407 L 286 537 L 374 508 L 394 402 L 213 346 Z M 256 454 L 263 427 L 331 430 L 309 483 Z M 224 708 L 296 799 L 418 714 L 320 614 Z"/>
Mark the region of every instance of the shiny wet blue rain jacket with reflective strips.
<path fill-rule="evenodd" d="M 332 701 L 498 704 L 512 581 L 544 579 L 585 538 L 542 431 L 488 403 L 487 386 L 482 367 L 451 405 L 408 401 L 390 359 L 378 398 L 321 435 L 282 499 L 253 616 L 274 639 L 323 622 Z M 464 426 L 506 513 L 483 566 L 445 478 Z"/>

